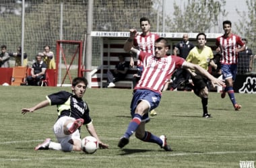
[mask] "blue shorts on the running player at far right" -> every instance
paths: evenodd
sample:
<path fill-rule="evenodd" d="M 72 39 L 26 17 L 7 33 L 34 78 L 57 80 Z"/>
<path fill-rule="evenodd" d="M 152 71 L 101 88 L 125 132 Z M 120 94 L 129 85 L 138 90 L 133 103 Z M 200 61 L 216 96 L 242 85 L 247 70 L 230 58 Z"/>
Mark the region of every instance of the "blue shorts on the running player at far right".
<path fill-rule="evenodd" d="M 237 65 L 221 65 L 222 69 L 222 79 L 226 80 L 232 78 L 234 81 L 236 79 Z"/>

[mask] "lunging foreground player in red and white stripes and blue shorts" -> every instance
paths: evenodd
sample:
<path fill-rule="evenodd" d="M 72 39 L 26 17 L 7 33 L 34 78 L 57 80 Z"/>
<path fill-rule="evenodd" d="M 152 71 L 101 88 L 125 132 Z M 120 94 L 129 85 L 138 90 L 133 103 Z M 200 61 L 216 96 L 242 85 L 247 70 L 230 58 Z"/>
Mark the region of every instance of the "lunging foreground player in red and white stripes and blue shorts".
<path fill-rule="evenodd" d="M 125 42 L 132 42 L 135 37 L 136 30 L 130 30 L 130 37 Z M 154 43 L 154 54 L 139 52 L 135 48 L 131 48 L 132 52 L 137 53 L 139 60 L 143 62 L 143 73 L 141 79 L 137 83 L 133 91 L 133 99 L 131 100 L 131 116 L 132 120 L 129 123 L 125 134 L 119 140 L 118 146 L 123 148 L 129 143 L 129 137 L 135 132 L 136 138 L 144 142 L 153 142 L 158 144 L 165 151 L 172 151 L 166 142 L 166 136 L 155 136 L 151 132 L 145 130 L 146 122 L 150 120 L 148 112 L 158 107 L 162 96 L 161 90 L 164 84 L 176 69 L 193 69 L 201 75 L 212 81 L 212 84 L 224 85 L 224 83 L 210 75 L 205 69 L 186 62 L 178 56 L 167 56 L 168 42 L 165 38 L 158 38 Z"/>

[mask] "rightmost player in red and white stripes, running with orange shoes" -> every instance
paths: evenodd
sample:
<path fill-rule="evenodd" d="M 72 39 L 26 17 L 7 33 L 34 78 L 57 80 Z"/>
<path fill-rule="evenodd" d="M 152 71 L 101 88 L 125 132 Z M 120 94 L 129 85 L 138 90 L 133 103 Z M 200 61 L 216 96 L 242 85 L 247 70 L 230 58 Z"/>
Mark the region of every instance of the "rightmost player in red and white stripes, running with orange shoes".
<path fill-rule="evenodd" d="M 232 34 L 231 25 L 229 20 L 223 22 L 224 35 L 216 39 L 216 46 L 218 47 L 216 51 L 221 54 L 222 77 L 226 83 L 221 97 L 224 98 L 228 92 L 234 110 L 239 110 L 242 106 L 236 103 L 233 81 L 236 79 L 238 52 L 245 50 L 245 44 L 239 36 Z"/>

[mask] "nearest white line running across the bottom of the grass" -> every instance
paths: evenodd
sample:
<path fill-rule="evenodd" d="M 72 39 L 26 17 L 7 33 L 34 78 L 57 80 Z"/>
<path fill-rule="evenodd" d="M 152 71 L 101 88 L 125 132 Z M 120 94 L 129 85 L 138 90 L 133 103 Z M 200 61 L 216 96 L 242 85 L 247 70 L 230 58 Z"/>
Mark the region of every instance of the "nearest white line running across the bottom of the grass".
<path fill-rule="evenodd" d="M 166 155 L 115 155 L 115 156 L 94 156 L 86 155 L 85 157 L 46 157 L 46 158 L 24 158 L 24 159 L 0 159 L 0 161 L 42 161 L 42 160 L 80 160 L 80 159 L 121 159 L 123 157 L 177 157 L 189 155 L 226 155 L 226 154 L 241 154 L 241 153 L 256 153 L 256 151 L 223 151 L 223 152 L 210 152 L 210 153 L 172 153 Z"/>

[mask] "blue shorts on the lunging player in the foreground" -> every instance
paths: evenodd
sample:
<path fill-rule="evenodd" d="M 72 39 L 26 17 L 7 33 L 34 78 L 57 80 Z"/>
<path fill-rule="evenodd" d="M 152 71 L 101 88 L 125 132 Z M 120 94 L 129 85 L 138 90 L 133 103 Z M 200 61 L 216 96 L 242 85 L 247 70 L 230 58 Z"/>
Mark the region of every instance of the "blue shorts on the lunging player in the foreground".
<path fill-rule="evenodd" d="M 133 118 L 135 114 L 135 110 L 137 108 L 137 104 L 140 101 L 146 101 L 150 106 L 150 110 L 153 110 L 158 107 L 160 103 L 160 99 L 161 99 L 161 95 L 154 91 L 150 91 L 148 89 L 135 90 L 135 92 L 133 93 L 133 99 L 131 100 L 131 117 Z M 150 118 L 147 113 L 147 114 L 144 114 L 144 116 L 142 116 L 141 122 L 149 121 L 149 120 Z"/>

